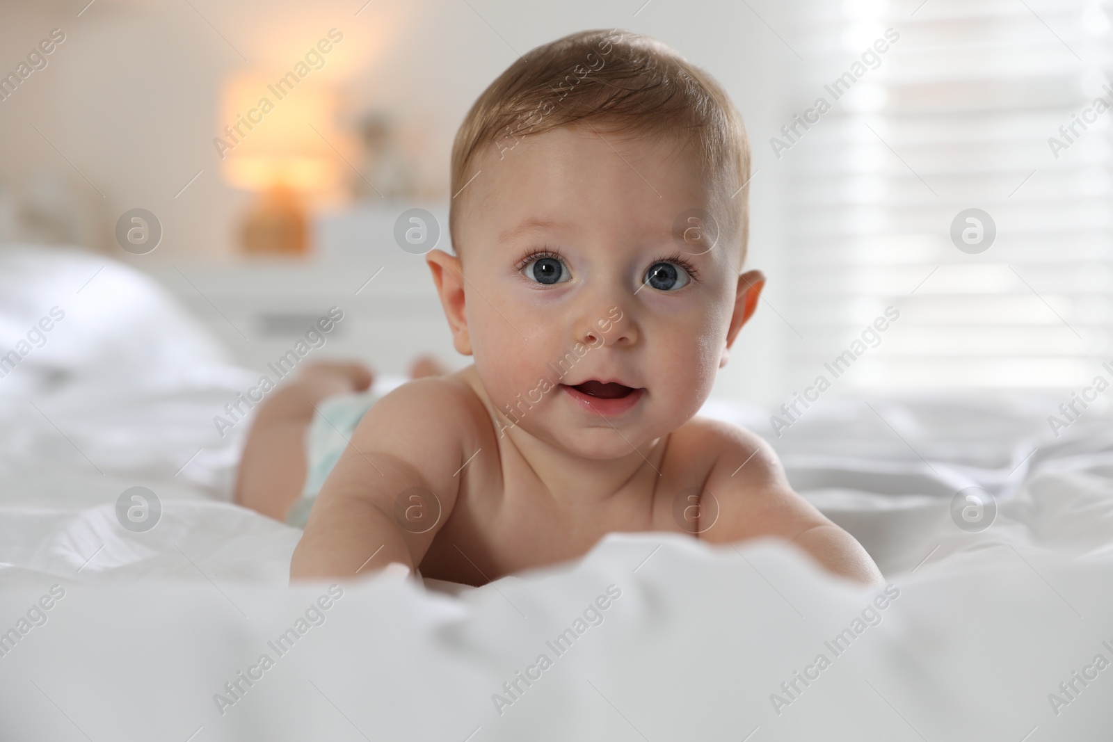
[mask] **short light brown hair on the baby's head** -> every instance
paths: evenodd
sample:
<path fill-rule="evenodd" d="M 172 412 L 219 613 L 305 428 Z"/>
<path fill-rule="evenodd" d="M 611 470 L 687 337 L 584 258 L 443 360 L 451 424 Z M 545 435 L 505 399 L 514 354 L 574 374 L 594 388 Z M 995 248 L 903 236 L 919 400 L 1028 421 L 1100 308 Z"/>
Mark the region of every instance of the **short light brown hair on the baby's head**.
<path fill-rule="evenodd" d="M 710 75 L 656 39 L 619 30 L 580 31 L 540 46 L 475 100 L 452 146 L 453 245 L 462 200 L 455 195 L 474 177 L 469 166 L 480 150 L 495 147 L 505 157 L 528 135 L 592 121 L 609 132 L 695 145 L 702 174 L 717 181 L 729 215 L 725 227 L 738 236 L 745 260 L 750 147 L 742 117 Z"/>

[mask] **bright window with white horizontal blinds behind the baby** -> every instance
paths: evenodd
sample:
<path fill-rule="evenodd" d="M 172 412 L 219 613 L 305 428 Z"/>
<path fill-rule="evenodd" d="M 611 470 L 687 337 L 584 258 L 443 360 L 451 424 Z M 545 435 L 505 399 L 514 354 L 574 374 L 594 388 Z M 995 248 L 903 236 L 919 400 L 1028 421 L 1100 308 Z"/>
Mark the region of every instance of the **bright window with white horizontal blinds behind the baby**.
<path fill-rule="evenodd" d="M 786 123 L 812 122 L 770 142 L 791 160 L 794 380 L 830 378 L 893 306 L 838 384 L 1084 385 L 1113 365 L 1109 3 L 918 2 L 797 17 L 807 62 Z M 971 251 L 951 237 L 971 208 L 995 224 L 981 253 L 984 220 L 961 220 Z"/>

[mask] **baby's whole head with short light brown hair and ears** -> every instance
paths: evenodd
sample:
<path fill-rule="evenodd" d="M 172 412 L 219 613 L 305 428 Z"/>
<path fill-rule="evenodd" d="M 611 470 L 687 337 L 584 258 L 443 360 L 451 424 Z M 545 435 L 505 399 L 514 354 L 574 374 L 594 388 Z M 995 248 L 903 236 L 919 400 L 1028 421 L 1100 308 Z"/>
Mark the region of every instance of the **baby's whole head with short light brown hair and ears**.
<path fill-rule="evenodd" d="M 764 285 L 749 169 L 726 92 L 647 37 L 574 33 L 491 83 L 453 146 L 455 256 L 427 259 L 500 435 L 613 458 L 696 414 Z"/>

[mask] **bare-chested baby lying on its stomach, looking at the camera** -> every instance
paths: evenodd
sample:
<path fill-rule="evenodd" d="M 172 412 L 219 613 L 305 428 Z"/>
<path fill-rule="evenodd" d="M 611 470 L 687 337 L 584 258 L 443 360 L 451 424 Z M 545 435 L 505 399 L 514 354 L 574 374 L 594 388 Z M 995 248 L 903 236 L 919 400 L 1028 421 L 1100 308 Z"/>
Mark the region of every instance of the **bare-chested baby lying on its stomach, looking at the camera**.
<path fill-rule="evenodd" d="M 668 531 L 781 537 L 835 574 L 880 582 L 766 442 L 695 416 L 765 283 L 741 270 L 749 170 L 726 92 L 658 41 L 585 31 L 514 62 L 456 135 L 454 255 L 426 256 L 455 348 L 474 363 L 370 407 L 292 577 L 400 562 L 480 585 L 581 556 L 613 531 Z M 318 368 L 287 396 L 304 412 L 365 388 L 365 374 Z M 304 476 L 306 417 L 267 415 L 243 477 Z"/>

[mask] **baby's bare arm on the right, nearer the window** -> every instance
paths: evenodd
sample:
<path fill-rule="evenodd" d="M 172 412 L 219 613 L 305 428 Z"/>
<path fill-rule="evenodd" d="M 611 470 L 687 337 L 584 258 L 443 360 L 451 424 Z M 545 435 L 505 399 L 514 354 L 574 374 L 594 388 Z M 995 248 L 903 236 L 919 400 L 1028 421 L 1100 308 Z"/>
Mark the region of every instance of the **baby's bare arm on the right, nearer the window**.
<path fill-rule="evenodd" d="M 706 433 L 718 439 L 716 447 L 720 451 L 705 485 L 705 495 L 709 491 L 718 501 L 719 517 L 700 538 L 730 543 L 780 536 L 837 575 L 865 584 L 884 582 L 880 570 L 854 536 L 792 492 L 768 443 L 719 423 L 708 422 Z M 708 513 L 706 505 L 700 509 Z"/>

